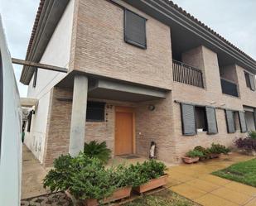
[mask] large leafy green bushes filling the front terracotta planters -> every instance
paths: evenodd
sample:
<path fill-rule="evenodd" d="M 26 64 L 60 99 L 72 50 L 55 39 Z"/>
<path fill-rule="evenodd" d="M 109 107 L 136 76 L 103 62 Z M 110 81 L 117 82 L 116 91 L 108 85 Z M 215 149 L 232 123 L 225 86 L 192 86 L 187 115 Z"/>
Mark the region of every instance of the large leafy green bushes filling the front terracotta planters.
<path fill-rule="evenodd" d="M 79 156 L 66 155 L 57 158 L 54 169 L 46 175 L 43 184 L 52 192 L 69 190 L 78 200 L 102 200 L 113 194 L 114 189 L 144 184 L 164 175 L 166 169 L 166 165 L 156 160 L 105 169 L 102 160 L 81 152 Z"/>

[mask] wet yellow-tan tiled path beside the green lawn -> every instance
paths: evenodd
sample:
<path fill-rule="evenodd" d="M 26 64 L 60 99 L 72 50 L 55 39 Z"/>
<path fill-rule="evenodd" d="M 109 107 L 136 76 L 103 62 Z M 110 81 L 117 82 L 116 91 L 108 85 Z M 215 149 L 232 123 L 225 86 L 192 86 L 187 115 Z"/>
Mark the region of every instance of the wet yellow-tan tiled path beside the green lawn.
<path fill-rule="evenodd" d="M 252 157 L 232 154 L 220 159 L 179 165 L 168 170 L 168 187 L 177 194 L 204 206 L 256 206 L 256 188 L 210 175 Z"/>

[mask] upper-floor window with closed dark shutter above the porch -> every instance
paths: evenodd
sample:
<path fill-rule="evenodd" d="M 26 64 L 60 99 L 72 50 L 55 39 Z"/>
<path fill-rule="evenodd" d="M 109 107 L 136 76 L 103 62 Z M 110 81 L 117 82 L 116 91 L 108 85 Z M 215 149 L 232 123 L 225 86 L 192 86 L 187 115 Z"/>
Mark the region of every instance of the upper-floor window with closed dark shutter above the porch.
<path fill-rule="evenodd" d="M 124 41 L 147 49 L 146 19 L 127 9 L 124 10 Z"/>

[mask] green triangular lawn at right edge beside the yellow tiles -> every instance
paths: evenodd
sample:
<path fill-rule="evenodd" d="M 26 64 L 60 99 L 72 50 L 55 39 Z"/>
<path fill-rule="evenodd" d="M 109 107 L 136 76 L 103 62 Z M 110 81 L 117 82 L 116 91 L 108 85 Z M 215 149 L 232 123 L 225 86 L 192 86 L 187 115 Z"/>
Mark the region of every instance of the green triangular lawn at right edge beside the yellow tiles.
<path fill-rule="evenodd" d="M 212 174 L 256 187 L 256 159 L 239 162 Z"/>

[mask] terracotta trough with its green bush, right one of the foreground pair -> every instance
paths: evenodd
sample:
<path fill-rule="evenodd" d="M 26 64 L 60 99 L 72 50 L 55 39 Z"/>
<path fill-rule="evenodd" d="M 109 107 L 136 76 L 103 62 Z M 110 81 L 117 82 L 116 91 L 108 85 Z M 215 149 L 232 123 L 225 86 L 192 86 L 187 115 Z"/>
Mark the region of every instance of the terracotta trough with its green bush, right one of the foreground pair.
<path fill-rule="evenodd" d="M 130 165 L 128 172 L 133 178 L 133 190 L 142 194 L 167 184 L 166 165 L 157 160 Z"/>

